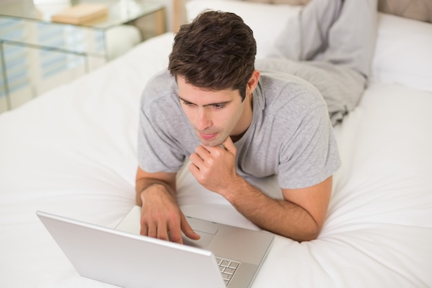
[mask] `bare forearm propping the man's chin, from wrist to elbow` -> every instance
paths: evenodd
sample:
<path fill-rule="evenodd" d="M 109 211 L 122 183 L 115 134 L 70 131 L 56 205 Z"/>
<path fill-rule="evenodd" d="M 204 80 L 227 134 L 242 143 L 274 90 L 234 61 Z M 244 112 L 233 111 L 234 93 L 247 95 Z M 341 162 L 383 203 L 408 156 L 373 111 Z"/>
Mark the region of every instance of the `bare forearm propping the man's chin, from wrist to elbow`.
<path fill-rule="evenodd" d="M 239 177 L 222 195 L 258 227 L 297 241 L 317 238 L 320 226 L 312 215 L 288 200 L 268 197 Z"/>

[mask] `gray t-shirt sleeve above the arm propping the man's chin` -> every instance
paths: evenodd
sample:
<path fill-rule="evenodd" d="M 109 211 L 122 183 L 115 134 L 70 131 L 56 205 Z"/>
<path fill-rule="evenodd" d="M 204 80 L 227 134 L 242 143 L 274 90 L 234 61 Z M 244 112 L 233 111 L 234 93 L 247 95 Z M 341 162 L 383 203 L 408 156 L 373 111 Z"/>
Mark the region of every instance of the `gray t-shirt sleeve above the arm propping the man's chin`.
<path fill-rule="evenodd" d="M 340 164 L 326 106 L 318 106 L 305 115 L 295 133 L 284 139 L 277 173 L 279 186 L 300 189 L 319 184 Z"/>

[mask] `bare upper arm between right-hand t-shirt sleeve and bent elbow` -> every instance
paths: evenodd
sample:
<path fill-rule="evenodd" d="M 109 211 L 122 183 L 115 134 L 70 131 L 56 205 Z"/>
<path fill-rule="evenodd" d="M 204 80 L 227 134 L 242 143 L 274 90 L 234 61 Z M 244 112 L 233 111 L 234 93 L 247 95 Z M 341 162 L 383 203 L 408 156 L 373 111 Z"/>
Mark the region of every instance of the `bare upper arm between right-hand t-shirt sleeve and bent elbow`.
<path fill-rule="evenodd" d="M 319 229 L 324 225 L 331 198 L 333 176 L 314 186 L 302 189 L 282 189 L 284 200 L 292 202 L 311 215 Z"/>

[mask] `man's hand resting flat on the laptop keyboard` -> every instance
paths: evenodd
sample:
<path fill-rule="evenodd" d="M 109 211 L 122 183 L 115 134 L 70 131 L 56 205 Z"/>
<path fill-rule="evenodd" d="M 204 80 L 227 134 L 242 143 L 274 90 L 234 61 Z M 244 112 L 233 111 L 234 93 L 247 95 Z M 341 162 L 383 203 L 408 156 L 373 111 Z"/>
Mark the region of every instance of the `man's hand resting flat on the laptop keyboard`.
<path fill-rule="evenodd" d="M 168 189 L 168 186 L 155 182 L 141 191 L 141 235 L 183 244 L 183 231 L 186 237 L 198 240 L 199 234 L 190 227 Z"/>

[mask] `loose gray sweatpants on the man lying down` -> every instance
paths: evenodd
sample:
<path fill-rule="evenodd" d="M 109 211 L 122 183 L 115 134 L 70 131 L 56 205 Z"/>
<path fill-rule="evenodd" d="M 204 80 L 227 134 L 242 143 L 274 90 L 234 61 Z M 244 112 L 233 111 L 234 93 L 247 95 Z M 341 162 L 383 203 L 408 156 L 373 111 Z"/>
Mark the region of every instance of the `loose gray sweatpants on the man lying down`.
<path fill-rule="evenodd" d="M 377 33 L 377 0 L 312 0 L 290 19 L 259 70 L 306 79 L 322 93 L 333 125 L 357 106 Z"/>

